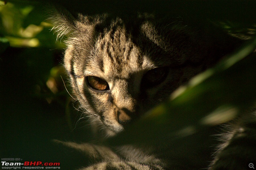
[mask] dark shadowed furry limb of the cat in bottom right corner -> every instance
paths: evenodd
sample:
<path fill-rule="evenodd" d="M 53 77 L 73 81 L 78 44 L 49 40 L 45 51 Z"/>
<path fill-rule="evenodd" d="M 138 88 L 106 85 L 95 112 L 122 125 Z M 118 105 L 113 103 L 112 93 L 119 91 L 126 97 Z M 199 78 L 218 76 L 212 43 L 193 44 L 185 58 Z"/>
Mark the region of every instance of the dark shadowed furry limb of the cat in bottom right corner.
<path fill-rule="evenodd" d="M 247 123 L 231 133 L 223 144 L 210 170 L 248 169 L 256 161 L 256 123 Z"/>

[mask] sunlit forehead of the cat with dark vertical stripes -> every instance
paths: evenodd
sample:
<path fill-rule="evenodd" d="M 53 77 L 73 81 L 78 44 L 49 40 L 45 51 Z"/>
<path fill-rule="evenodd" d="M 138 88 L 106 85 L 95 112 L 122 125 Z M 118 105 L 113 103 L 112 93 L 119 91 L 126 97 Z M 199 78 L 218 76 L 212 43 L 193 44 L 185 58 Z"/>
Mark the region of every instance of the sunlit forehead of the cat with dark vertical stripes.
<path fill-rule="evenodd" d="M 123 77 L 140 71 L 145 56 L 130 37 L 124 26 L 114 27 L 100 36 L 96 43 L 94 65 L 109 76 L 115 74 Z"/>

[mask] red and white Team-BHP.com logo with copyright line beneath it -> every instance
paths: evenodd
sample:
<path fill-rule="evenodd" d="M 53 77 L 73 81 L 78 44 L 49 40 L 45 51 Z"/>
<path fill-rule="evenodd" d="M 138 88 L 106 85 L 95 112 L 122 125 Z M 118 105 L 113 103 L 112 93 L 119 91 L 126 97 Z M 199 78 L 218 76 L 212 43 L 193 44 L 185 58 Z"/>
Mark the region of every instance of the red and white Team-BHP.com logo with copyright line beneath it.
<path fill-rule="evenodd" d="M 21 162 L 6 162 L 6 161 L 1 161 L 2 163 L 2 169 L 60 169 L 60 162 L 41 162 L 41 161 L 24 161 L 24 163 Z M 17 168 L 10 168 L 10 166 L 17 166 Z M 23 166 L 22 168 L 19 166 Z M 28 167 L 26 167 L 28 166 Z M 32 168 L 34 166 L 41 166 L 40 168 Z M 46 166 L 46 167 L 43 167 Z M 5 168 L 3 168 L 5 167 Z M 9 167 L 9 168 L 8 168 Z M 54 167 L 54 168 L 53 168 Z"/>

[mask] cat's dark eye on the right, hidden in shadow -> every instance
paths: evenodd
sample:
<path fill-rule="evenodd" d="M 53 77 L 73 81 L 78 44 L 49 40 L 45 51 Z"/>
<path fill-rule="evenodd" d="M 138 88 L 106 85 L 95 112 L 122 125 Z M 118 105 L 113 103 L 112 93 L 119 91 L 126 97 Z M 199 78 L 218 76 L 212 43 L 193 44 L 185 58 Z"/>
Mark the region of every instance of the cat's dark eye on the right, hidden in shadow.
<path fill-rule="evenodd" d="M 149 70 L 146 74 L 144 74 L 142 83 L 144 86 L 152 87 L 157 84 L 160 84 L 162 81 L 165 80 L 167 76 L 167 68 L 161 67 L 161 68 L 155 68 L 152 70 Z"/>

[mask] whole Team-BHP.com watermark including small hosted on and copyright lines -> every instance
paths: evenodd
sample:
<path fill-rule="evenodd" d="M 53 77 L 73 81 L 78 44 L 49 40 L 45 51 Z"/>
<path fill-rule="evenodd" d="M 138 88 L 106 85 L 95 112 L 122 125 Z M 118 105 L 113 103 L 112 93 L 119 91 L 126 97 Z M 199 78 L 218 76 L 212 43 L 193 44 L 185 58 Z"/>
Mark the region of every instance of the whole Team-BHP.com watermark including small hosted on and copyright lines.
<path fill-rule="evenodd" d="M 27 161 L 21 158 L 1 158 L 1 169 L 60 169 L 60 162 Z"/>

